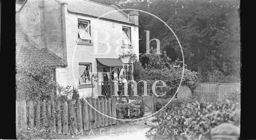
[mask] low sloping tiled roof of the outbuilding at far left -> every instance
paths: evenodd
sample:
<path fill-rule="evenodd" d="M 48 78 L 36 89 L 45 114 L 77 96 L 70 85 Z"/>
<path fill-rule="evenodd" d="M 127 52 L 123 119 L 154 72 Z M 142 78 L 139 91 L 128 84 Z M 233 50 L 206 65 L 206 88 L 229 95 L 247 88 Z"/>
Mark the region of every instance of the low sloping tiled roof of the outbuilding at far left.
<path fill-rule="evenodd" d="M 16 56 L 40 61 L 51 67 L 66 67 L 67 62 L 48 49 L 39 49 L 30 43 L 28 37 L 16 28 Z"/>

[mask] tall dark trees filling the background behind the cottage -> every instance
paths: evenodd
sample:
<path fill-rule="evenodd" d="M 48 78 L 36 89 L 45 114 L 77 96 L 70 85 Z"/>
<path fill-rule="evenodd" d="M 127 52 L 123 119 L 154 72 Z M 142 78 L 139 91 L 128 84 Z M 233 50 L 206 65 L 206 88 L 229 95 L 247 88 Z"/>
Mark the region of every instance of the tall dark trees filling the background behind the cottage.
<path fill-rule="evenodd" d="M 21 2 L 24 0 L 16 0 Z M 201 82 L 219 75 L 224 82 L 240 82 L 240 1 L 239 0 L 92 0 L 150 12 L 172 28 L 183 49 L 187 67 L 198 71 Z M 128 11 L 124 11 L 128 13 Z M 139 12 L 140 53 L 146 53 L 146 32 L 160 40 L 161 51 L 175 61 L 182 60 L 178 41 L 158 19 Z M 150 43 L 156 47 L 156 41 Z M 146 60 L 141 58 L 142 64 Z M 220 76 L 221 75 L 221 76 Z M 228 78 L 229 77 L 229 78 Z M 231 78 L 230 78 L 231 77 Z"/>

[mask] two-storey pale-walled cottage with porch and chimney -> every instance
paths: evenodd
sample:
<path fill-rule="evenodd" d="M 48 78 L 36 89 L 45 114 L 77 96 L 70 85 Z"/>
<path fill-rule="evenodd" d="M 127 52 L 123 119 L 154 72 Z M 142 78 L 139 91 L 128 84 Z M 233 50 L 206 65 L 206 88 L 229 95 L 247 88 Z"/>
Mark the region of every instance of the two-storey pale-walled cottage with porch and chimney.
<path fill-rule="evenodd" d="M 114 75 L 133 80 L 129 58 L 119 54 L 138 57 L 138 16 L 88 0 L 26 0 L 16 6 L 16 32 L 61 59 L 55 75 L 60 85 L 75 86 L 84 96 L 117 95 Z"/>

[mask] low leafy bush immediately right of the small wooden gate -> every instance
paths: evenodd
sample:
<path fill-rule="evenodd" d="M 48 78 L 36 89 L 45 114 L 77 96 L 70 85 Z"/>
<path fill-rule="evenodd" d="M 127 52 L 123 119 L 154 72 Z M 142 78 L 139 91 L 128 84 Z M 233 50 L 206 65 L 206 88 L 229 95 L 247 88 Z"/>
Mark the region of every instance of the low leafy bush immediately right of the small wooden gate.
<path fill-rule="evenodd" d="M 155 108 L 156 111 L 160 110 L 163 108 L 171 98 L 168 99 L 163 99 L 163 98 L 155 98 Z M 182 105 L 186 105 L 188 103 L 188 99 L 176 99 L 174 98 L 165 108 L 164 110 L 166 111 L 178 111 L 178 109 Z"/>

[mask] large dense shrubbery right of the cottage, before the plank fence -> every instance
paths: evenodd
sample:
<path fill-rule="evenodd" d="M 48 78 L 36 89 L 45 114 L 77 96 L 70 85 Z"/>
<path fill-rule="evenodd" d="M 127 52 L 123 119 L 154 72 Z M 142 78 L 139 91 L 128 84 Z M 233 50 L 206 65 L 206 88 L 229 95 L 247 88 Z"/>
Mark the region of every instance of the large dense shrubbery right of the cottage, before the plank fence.
<path fill-rule="evenodd" d="M 151 51 L 156 52 L 156 49 L 151 49 Z M 162 80 L 166 83 L 166 87 L 157 88 L 156 93 L 163 95 L 166 92 L 165 97 L 174 95 L 182 78 L 183 62 L 179 60 L 170 62 L 166 53 L 162 55 L 143 55 L 143 57 L 146 57 L 148 62 L 145 64 L 145 67 L 139 61 L 134 63 L 134 80 L 137 82 L 141 80 L 146 81 L 150 93 L 152 93 L 152 85 L 156 81 Z M 194 83 L 198 80 L 198 73 L 187 69 L 186 65 L 184 65 L 184 75 L 181 85 L 187 85 L 193 91 L 195 88 Z M 156 85 L 162 85 L 162 83 L 157 83 Z M 143 84 L 138 83 L 139 95 L 142 93 L 142 87 Z"/>

